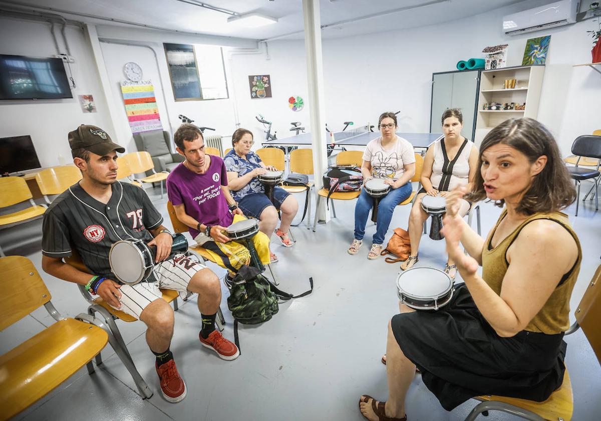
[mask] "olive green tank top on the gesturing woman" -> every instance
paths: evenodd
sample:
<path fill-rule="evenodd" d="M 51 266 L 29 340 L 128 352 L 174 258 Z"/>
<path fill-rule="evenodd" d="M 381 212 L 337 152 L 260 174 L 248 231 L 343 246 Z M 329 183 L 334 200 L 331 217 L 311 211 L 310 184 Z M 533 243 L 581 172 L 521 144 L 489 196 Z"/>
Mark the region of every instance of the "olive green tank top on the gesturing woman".
<path fill-rule="evenodd" d="M 532 318 L 525 328 L 527 331 L 546 334 L 556 334 L 566 331 L 570 327 L 570 296 L 572 295 L 572 289 L 578 278 L 578 272 L 580 271 L 580 264 L 582 261 L 582 248 L 580 247 L 580 242 L 578 241 L 576 233 L 570 226 L 567 215 L 562 212 L 534 214 L 523 221 L 523 223 L 514 229 L 510 235 L 493 248 L 490 244 L 492 237 L 495 234 L 499 223 L 501 223 L 506 215 L 507 209 L 503 209 L 499 220 L 486 239 L 484 249 L 482 250 L 482 277 L 497 295 L 501 295 L 503 278 L 505 277 L 505 272 L 507 272 L 508 268 L 506 257 L 507 249 L 513 244 L 526 224 L 534 220 L 543 219 L 555 221 L 563 226 L 576 241 L 578 247 L 578 259 L 576 259 L 576 263 L 574 263 L 574 266 L 572 266 L 572 269 L 570 269 L 569 272 L 564 274 L 558 286 L 555 287 L 555 290 L 551 293 L 549 300 L 546 301 L 543 308 L 540 309 L 537 315 Z"/>

